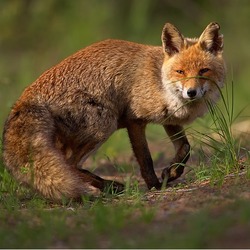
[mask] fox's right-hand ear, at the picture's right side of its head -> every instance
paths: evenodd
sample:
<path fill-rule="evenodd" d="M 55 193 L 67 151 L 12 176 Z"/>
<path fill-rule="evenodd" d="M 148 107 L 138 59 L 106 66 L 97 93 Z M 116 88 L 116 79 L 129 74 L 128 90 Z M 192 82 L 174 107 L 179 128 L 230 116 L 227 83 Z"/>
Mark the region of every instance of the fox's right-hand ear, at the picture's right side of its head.
<path fill-rule="evenodd" d="M 217 54 L 223 51 L 223 35 L 219 34 L 220 25 L 210 23 L 199 38 L 199 44 L 202 49 Z"/>

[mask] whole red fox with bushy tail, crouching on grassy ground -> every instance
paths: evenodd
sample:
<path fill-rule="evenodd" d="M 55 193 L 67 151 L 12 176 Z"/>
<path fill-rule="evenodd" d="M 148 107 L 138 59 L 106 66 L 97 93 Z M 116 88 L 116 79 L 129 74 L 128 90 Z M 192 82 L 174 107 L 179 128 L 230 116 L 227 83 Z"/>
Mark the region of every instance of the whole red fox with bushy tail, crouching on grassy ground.
<path fill-rule="evenodd" d="M 13 105 L 3 131 L 7 169 L 52 200 L 78 199 L 121 183 L 82 169 L 86 158 L 126 128 L 149 189 L 178 178 L 189 158 L 183 125 L 216 102 L 225 78 L 223 36 L 210 23 L 199 38 L 185 38 L 172 24 L 162 46 L 105 40 L 69 56 L 27 87 Z M 161 124 L 176 155 L 155 174 L 145 137 L 148 123 Z"/>

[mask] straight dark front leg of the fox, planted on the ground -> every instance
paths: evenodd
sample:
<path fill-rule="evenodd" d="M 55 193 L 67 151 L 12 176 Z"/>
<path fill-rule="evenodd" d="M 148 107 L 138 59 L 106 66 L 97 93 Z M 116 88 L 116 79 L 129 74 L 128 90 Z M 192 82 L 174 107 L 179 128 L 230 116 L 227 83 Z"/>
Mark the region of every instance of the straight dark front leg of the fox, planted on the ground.
<path fill-rule="evenodd" d="M 128 135 L 135 157 L 140 165 L 141 175 L 146 182 L 149 189 L 155 187 L 161 188 L 153 166 L 153 160 L 151 158 L 146 135 L 145 135 L 146 124 L 143 122 L 133 122 L 127 126 Z"/>

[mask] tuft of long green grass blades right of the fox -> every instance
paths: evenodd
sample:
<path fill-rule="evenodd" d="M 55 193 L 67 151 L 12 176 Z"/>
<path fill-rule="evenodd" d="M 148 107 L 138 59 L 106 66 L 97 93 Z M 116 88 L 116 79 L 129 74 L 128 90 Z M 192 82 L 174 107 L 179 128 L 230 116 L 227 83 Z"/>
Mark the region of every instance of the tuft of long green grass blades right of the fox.
<path fill-rule="evenodd" d="M 232 133 L 232 124 L 239 116 L 239 114 L 234 115 L 233 82 L 230 86 L 231 89 L 226 84 L 225 94 L 218 87 L 222 97 L 220 104 L 206 100 L 212 121 L 207 128 L 207 131 L 210 132 L 195 130 L 194 133 L 194 137 L 203 145 L 200 149 L 200 160 L 202 160 L 196 170 L 196 177 L 200 180 L 209 178 L 211 183 L 217 184 L 222 184 L 229 173 L 237 174 L 242 168 L 240 152 L 244 149 Z M 208 152 L 210 156 L 208 156 Z"/>

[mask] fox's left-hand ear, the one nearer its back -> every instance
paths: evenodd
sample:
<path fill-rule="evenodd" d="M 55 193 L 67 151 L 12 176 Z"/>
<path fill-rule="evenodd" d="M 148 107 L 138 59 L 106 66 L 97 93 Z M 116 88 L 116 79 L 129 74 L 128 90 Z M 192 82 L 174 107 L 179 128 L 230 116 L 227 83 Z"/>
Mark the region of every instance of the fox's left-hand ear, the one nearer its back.
<path fill-rule="evenodd" d="M 169 56 L 179 53 L 184 46 L 184 37 L 171 23 L 166 23 L 161 35 L 163 51 Z"/>

